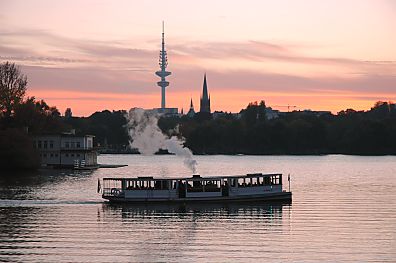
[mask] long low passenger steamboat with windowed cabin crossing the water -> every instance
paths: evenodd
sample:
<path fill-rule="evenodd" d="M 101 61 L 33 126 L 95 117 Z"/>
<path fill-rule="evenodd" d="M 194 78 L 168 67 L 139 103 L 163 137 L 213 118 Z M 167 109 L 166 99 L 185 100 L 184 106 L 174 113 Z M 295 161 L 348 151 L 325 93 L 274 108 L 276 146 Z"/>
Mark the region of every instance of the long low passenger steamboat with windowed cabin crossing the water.
<path fill-rule="evenodd" d="M 189 203 L 228 201 L 291 201 L 283 189 L 282 174 L 247 174 L 236 176 L 188 178 L 104 178 L 98 191 L 110 202 Z"/>

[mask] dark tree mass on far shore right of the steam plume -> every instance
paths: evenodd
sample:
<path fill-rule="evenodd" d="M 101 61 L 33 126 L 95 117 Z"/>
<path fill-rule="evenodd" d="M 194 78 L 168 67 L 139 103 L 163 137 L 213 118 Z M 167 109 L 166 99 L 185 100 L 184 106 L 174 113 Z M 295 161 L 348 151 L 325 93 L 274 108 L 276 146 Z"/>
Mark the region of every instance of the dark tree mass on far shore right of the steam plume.
<path fill-rule="evenodd" d="M 270 120 L 264 107 L 250 104 L 240 118 L 183 118 L 180 131 L 200 154 L 396 154 L 395 104 L 337 115 L 294 111 Z"/>

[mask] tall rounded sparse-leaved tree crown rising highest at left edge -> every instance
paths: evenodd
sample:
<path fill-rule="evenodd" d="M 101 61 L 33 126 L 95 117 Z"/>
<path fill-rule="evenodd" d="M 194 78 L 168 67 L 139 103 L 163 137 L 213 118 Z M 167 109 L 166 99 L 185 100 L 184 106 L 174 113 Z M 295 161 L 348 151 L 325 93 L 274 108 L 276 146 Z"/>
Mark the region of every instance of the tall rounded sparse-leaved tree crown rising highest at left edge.
<path fill-rule="evenodd" d="M 0 112 L 10 117 L 15 107 L 23 100 L 27 77 L 15 63 L 0 64 Z"/>

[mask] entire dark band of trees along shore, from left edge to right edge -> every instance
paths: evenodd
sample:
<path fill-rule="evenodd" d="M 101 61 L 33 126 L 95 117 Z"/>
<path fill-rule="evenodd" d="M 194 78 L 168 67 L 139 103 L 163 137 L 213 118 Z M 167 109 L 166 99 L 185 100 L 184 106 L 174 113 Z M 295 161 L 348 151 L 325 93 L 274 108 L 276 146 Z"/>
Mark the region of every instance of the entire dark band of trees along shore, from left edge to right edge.
<path fill-rule="evenodd" d="M 27 83 L 18 66 L 0 64 L 2 169 L 37 168 L 40 161 L 32 136 L 71 129 L 94 135 L 97 149 L 103 153 L 134 152 L 129 148 L 126 111 L 62 116 L 45 101 L 26 97 Z M 261 101 L 250 103 L 238 114 L 161 117 L 158 125 L 165 134 L 178 131 L 194 154 L 396 154 L 396 105 L 392 102 L 376 102 L 368 111 L 293 111 L 274 117 Z"/>

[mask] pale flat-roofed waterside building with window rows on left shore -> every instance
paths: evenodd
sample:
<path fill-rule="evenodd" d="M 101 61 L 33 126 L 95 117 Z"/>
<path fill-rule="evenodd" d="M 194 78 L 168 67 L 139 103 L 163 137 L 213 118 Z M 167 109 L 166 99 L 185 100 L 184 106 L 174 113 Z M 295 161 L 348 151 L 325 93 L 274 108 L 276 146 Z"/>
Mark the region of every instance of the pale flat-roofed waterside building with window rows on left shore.
<path fill-rule="evenodd" d="M 37 135 L 33 147 L 37 149 L 42 166 L 84 167 L 97 165 L 93 135 L 68 134 Z"/>

